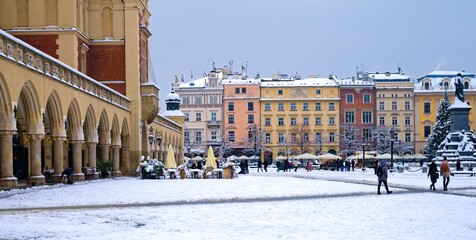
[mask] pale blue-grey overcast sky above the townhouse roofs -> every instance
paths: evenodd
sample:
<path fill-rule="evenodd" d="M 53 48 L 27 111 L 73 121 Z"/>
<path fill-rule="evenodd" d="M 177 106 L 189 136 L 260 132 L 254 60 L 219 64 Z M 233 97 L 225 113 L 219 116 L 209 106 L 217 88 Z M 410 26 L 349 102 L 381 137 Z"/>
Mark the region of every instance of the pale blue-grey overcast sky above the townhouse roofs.
<path fill-rule="evenodd" d="M 248 76 L 339 78 L 396 71 L 476 72 L 474 0 L 152 0 L 150 42 L 161 102 L 174 76 L 233 60 Z M 162 111 L 165 110 L 164 106 Z"/>

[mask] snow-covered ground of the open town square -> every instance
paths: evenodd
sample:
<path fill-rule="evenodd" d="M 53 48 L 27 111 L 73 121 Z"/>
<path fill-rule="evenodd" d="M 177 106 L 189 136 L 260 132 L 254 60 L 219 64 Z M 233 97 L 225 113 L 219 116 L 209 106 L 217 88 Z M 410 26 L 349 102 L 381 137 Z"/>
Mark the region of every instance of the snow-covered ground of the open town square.
<path fill-rule="evenodd" d="M 476 177 L 421 172 L 118 178 L 0 191 L 0 239 L 475 239 Z"/>

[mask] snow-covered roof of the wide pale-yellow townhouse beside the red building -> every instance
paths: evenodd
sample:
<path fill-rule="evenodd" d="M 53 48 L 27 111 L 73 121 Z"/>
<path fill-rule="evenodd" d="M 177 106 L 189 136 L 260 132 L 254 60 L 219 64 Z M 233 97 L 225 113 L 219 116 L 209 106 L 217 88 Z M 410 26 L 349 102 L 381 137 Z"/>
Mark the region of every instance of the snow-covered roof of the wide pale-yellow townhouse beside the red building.
<path fill-rule="evenodd" d="M 271 78 L 263 78 L 261 80 L 261 86 L 263 87 L 300 87 L 300 86 L 326 86 L 326 87 L 336 87 L 337 82 L 335 79 L 329 78 L 305 78 L 301 80 L 277 80 L 273 81 Z"/>

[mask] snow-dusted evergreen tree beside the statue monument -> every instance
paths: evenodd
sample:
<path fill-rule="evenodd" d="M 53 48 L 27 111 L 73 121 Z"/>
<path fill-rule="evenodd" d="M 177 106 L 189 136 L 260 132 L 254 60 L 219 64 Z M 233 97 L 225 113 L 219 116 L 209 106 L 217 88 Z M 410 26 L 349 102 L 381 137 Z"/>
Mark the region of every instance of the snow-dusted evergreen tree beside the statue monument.
<path fill-rule="evenodd" d="M 435 119 L 435 125 L 431 129 L 431 134 L 428 136 L 428 143 L 425 146 L 425 154 L 436 156 L 438 146 L 445 139 L 450 132 L 451 119 L 448 108 L 450 107 L 450 101 L 448 95 L 445 93 L 445 97 L 441 100 L 438 106 L 438 113 Z"/>

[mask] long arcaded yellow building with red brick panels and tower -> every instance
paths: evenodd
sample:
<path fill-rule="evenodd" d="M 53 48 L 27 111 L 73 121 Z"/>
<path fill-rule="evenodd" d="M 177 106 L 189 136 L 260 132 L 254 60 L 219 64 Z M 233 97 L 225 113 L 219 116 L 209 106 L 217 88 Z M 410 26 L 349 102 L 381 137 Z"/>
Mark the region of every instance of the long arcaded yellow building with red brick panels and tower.
<path fill-rule="evenodd" d="M 97 178 L 97 161 L 133 175 L 168 145 L 182 161 L 182 126 L 149 79 L 148 2 L 0 1 L 0 189 L 66 167 Z"/>

